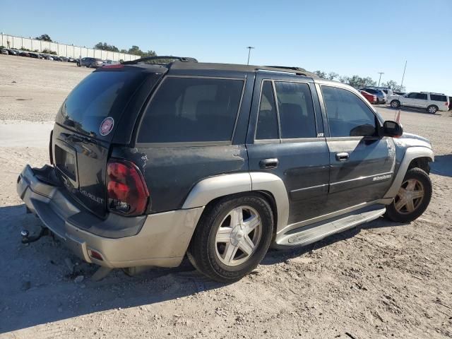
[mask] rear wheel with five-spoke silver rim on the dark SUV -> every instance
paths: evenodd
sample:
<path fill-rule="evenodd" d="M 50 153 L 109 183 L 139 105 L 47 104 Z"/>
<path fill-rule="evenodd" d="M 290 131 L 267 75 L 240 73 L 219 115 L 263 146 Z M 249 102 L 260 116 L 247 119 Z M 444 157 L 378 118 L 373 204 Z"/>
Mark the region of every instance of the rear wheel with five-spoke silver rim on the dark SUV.
<path fill-rule="evenodd" d="M 225 197 L 204 211 L 187 256 L 208 278 L 233 283 L 258 266 L 272 237 L 273 213 L 267 201 L 258 194 Z"/>

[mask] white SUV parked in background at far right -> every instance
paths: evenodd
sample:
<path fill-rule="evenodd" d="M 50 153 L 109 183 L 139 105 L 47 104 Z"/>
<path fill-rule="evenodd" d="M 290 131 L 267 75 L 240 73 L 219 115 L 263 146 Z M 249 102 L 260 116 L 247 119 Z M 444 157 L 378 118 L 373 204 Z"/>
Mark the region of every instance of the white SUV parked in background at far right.
<path fill-rule="evenodd" d="M 420 108 L 432 114 L 449 109 L 448 97 L 443 93 L 411 92 L 405 95 L 391 95 L 388 102 L 393 108 L 400 106 Z"/>

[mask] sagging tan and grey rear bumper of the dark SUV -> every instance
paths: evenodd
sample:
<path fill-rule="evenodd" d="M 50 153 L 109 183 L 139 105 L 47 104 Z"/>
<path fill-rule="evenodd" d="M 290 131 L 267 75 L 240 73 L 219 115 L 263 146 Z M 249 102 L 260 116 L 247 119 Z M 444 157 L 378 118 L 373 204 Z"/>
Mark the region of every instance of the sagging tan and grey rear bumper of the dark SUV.
<path fill-rule="evenodd" d="M 26 165 L 18 177 L 17 192 L 78 257 L 109 268 L 179 266 L 202 207 L 133 218 L 109 213 L 101 219 L 71 198 L 52 174 L 51 166 L 32 169 Z M 93 251 L 101 259 L 93 257 Z"/>

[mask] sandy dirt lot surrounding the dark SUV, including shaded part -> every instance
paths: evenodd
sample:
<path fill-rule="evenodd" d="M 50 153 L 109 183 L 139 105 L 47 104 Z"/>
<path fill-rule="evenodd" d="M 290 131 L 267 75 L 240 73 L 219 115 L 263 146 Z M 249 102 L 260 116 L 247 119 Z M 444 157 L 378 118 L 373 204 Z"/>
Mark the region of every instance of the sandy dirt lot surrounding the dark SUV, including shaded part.
<path fill-rule="evenodd" d="M 89 72 L 0 55 L 0 120 L 51 121 Z M 452 338 L 451 115 L 402 112 L 405 131 L 430 138 L 436 152 L 421 218 L 380 218 L 270 251 L 232 285 L 206 280 L 187 262 L 93 282 L 95 267 L 52 238 L 24 246 L 20 230 L 36 231 L 40 220 L 25 214 L 16 179 L 25 164 L 46 163 L 48 150 L 0 144 L 0 338 Z"/>

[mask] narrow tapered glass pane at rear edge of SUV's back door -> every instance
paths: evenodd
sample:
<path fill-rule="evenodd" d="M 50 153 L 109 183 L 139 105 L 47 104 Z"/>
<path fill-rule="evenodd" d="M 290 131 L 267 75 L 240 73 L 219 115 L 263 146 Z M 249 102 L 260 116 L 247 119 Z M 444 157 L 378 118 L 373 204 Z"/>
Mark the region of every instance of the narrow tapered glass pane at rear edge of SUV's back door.
<path fill-rule="evenodd" d="M 264 81 L 262 85 L 256 139 L 278 139 L 278 114 L 271 81 Z"/>

